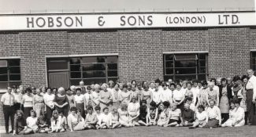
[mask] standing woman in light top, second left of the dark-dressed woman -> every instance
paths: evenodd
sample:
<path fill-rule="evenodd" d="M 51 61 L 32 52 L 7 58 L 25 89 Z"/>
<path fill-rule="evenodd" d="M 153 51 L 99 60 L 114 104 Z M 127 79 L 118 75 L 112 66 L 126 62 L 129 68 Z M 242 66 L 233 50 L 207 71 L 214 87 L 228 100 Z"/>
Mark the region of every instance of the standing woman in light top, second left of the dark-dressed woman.
<path fill-rule="evenodd" d="M 36 94 L 33 97 L 33 109 L 35 110 L 35 114 L 37 117 L 40 116 L 40 113 L 45 111 L 45 105 L 43 96 L 41 95 L 40 89 L 36 88 Z"/>

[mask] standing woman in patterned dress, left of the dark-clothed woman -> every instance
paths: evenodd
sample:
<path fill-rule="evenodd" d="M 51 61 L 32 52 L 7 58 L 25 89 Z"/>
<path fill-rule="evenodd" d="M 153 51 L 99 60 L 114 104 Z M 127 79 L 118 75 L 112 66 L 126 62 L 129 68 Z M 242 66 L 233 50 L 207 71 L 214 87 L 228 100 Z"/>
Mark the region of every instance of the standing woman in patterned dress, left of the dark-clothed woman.
<path fill-rule="evenodd" d="M 222 88 L 222 96 L 220 100 L 220 110 L 221 114 L 229 113 L 229 103 L 228 103 L 228 91 L 227 88 Z"/>

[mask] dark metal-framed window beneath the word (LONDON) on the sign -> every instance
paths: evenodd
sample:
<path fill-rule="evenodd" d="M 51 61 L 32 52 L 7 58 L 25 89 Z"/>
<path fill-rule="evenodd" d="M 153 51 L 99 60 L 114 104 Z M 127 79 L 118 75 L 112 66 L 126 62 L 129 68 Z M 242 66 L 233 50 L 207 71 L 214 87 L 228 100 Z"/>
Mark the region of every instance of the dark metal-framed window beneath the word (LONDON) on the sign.
<path fill-rule="evenodd" d="M 164 55 L 164 80 L 206 80 L 207 54 L 184 53 Z"/>

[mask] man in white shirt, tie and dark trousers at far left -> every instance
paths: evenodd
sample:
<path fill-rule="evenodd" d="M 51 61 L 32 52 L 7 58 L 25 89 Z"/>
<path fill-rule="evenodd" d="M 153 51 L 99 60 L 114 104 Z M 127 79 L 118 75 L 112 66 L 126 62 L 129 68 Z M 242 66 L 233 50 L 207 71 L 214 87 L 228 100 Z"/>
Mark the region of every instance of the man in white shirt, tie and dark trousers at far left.
<path fill-rule="evenodd" d="M 6 134 L 13 132 L 13 122 L 14 122 L 14 96 L 12 94 L 12 88 L 7 87 L 7 92 L 2 95 L 1 98 L 4 118 L 6 122 Z M 11 119 L 12 131 L 9 132 L 9 118 Z"/>

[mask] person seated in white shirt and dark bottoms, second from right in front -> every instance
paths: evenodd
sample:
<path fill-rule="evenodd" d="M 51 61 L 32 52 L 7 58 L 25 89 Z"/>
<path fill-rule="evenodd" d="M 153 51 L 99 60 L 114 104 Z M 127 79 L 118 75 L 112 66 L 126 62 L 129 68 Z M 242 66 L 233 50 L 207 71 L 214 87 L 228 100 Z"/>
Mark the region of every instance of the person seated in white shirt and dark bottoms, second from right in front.
<path fill-rule="evenodd" d="M 210 107 L 207 108 L 206 125 L 203 128 L 213 128 L 221 125 L 221 110 L 215 106 L 215 100 L 210 100 Z"/>

